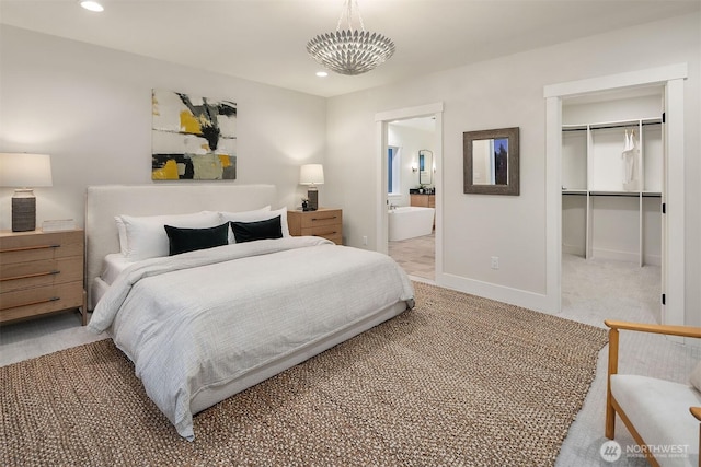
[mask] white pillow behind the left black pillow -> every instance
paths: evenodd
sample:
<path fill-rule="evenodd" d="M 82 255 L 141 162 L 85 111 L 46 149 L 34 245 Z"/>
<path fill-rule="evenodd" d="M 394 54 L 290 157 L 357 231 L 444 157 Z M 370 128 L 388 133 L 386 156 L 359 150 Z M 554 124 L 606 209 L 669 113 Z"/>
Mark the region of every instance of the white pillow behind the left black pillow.
<path fill-rule="evenodd" d="M 188 229 L 219 225 L 219 213 L 214 211 L 172 215 L 119 215 L 118 218 L 124 226 L 126 240 L 126 242 L 119 240 L 122 254 L 130 261 L 168 256 L 168 235 L 164 225 Z M 117 230 L 119 229 L 119 221 L 117 221 Z"/>

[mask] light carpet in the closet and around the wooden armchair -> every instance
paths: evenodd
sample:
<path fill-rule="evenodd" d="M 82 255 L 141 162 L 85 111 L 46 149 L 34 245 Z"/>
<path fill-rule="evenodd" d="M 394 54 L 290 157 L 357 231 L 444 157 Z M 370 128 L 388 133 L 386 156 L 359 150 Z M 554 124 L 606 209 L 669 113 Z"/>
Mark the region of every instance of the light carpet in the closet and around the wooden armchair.
<path fill-rule="evenodd" d="M 604 319 L 659 323 L 660 271 L 658 267 L 624 261 L 563 255 L 562 313 L 560 316 L 605 327 Z M 599 450 L 604 436 L 608 346 L 600 352 L 597 375 L 577 419 L 570 428 L 558 458 L 559 467 L 648 466 L 635 453 L 623 454 L 614 464 L 605 462 Z M 621 331 L 619 372 L 688 383 L 701 348 L 678 345 L 663 336 Z M 616 441 L 625 451 L 633 437 L 620 419 Z"/>

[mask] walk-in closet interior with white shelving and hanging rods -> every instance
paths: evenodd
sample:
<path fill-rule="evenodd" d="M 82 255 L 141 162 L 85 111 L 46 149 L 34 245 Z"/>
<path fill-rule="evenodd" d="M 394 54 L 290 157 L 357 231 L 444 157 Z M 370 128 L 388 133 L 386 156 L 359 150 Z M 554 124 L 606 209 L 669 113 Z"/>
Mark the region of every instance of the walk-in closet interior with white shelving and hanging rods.
<path fill-rule="evenodd" d="M 563 287 L 563 306 L 618 300 L 659 322 L 663 121 L 662 87 L 563 102 L 563 284 L 588 285 L 574 297 Z"/>

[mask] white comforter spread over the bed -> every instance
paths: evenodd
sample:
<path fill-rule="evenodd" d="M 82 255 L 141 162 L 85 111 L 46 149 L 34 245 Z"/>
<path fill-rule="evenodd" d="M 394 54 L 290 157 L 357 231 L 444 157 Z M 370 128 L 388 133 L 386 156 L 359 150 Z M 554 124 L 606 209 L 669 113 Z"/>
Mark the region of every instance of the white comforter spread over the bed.
<path fill-rule="evenodd" d="M 152 258 L 127 268 L 93 312 L 149 397 L 194 439 L 191 401 L 400 301 L 413 288 L 389 257 L 286 237 Z"/>

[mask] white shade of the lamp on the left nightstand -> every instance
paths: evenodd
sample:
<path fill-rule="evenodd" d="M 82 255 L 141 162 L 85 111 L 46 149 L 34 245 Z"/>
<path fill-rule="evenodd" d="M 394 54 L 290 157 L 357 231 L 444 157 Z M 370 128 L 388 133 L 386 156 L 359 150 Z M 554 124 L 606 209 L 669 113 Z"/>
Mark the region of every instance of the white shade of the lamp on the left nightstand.
<path fill-rule="evenodd" d="M 48 154 L 0 153 L 0 186 L 51 186 L 51 156 Z"/>

